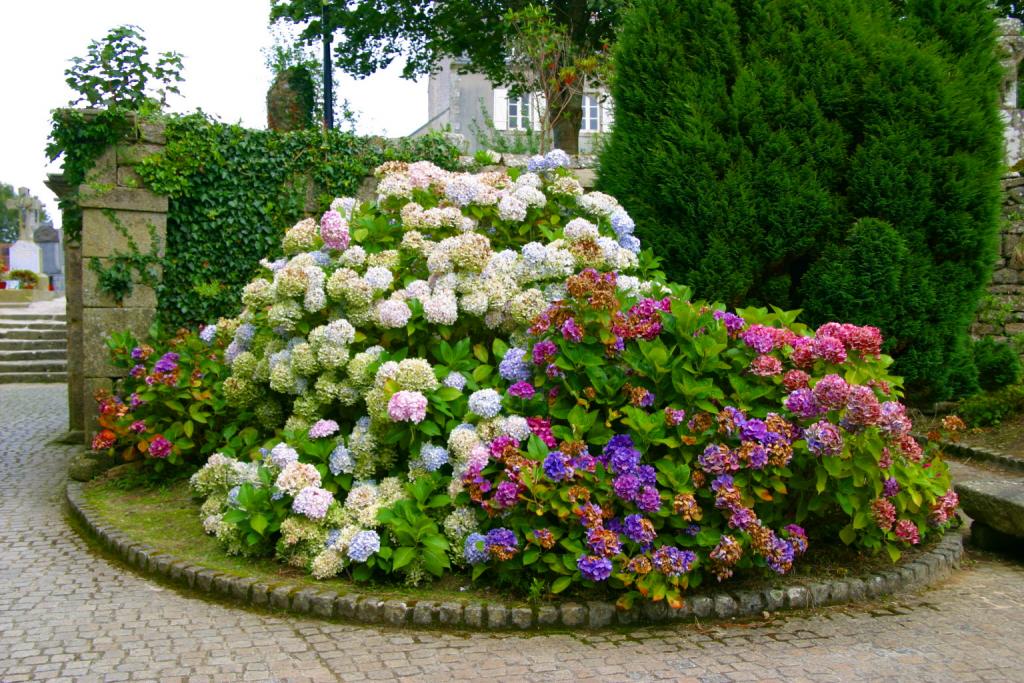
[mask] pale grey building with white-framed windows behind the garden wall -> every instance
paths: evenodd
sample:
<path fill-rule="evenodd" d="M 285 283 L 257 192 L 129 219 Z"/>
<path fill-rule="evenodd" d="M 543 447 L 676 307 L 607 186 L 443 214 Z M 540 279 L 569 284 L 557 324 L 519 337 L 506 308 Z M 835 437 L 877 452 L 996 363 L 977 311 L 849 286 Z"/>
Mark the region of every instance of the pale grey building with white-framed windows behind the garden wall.
<path fill-rule="evenodd" d="M 510 96 L 509 89 L 495 86 L 486 76 L 460 69 L 466 60 L 447 58 L 430 75 L 427 84 L 427 122 L 412 133 L 422 135 L 432 130 L 457 133 L 466 138 L 468 152 L 487 146 L 488 138 L 499 135 L 510 142 L 539 131 L 544 101 L 538 93 Z M 603 90 L 584 95 L 583 125 L 580 128 L 580 152 L 595 150 L 601 134 L 611 130 L 611 98 Z M 493 128 L 493 130 L 492 130 Z"/>

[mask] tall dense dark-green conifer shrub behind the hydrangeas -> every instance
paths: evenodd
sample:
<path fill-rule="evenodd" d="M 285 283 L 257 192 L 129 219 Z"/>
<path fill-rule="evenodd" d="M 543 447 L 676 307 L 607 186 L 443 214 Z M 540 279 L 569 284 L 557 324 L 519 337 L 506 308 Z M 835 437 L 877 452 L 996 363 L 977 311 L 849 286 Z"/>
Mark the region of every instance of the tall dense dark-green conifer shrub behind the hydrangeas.
<path fill-rule="evenodd" d="M 1002 164 L 982 0 L 636 4 L 600 188 L 699 296 L 879 327 L 915 398 L 976 389 Z"/>

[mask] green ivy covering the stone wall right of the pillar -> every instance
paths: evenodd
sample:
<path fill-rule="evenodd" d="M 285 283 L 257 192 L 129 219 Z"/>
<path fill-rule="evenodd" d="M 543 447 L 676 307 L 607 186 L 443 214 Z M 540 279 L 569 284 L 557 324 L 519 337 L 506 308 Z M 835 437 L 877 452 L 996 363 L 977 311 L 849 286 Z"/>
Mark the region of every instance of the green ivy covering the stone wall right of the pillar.
<path fill-rule="evenodd" d="M 171 329 L 238 313 L 242 287 L 259 260 L 278 255 L 282 232 L 355 196 L 385 161 L 429 160 L 455 168 L 459 152 L 440 135 L 398 141 L 347 132 L 278 133 L 214 122 L 201 114 L 167 121 L 167 145 L 136 167 L 170 199 L 161 322 Z"/>

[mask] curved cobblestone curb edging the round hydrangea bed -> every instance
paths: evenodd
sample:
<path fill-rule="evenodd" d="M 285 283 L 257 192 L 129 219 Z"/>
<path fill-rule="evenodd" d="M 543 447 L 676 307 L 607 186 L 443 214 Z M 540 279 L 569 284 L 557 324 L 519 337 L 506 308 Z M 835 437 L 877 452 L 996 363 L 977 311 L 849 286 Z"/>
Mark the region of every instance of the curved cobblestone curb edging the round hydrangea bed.
<path fill-rule="evenodd" d="M 539 607 L 478 600 L 382 600 L 357 593 L 300 588 L 293 584 L 264 584 L 196 566 L 161 554 L 152 546 L 135 543 L 120 529 L 98 520 L 82 497 L 82 484 L 71 481 L 67 499 L 72 513 L 102 547 L 142 573 L 210 593 L 220 598 L 299 614 L 362 624 L 449 627 L 468 630 L 535 630 L 544 628 L 603 629 L 611 626 L 689 622 L 694 618 L 759 616 L 764 611 L 805 609 L 856 603 L 883 595 L 916 590 L 948 578 L 958 569 L 964 544 L 956 530 L 947 531 L 939 544 L 912 562 L 853 579 L 822 581 L 762 591 L 718 590 L 688 595 L 681 609 L 665 602 L 645 603 L 630 610 L 608 602 L 563 602 Z"/>

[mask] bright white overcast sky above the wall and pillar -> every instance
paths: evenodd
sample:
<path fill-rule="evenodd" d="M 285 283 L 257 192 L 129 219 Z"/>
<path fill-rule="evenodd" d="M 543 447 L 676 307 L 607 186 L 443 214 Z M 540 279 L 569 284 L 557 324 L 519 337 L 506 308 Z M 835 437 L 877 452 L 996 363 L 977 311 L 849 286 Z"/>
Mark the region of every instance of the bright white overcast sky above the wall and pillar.
<path fill-rule="evenodd" d="M 272 43 L 268 0 L 38 0 L 4 2 L 0 13 L 0 181 L 28 187 L 59 226 L 56 197 L 46 187 L 44 150 L 50 111 L 75 93 L 65 83 L 74 56 L 123 24 L 142 29 L 153 55 L 184 55 L 175 112 L 203 110 L 228 123 L 266 127 L 270 72 L 262 49 Z M 392 65 L 368 79 L 339 73 L 335 96 L 348 99 L 356 131 L 401 136 L 427 120 L 427 85 L 403 80 Z"/>

